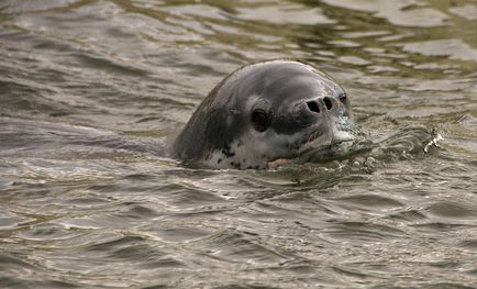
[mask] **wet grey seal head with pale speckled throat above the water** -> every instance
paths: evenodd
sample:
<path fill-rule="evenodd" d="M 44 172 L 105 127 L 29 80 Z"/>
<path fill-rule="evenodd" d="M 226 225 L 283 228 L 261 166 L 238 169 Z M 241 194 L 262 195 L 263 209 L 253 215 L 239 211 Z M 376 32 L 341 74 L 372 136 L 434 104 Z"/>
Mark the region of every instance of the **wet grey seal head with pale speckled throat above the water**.
<path fill-rule="evenodd" d="M 248 65 L 222 80 L 168 146 L 211 168 L 268 168 L 346 152 L 350 100 L 329 75 L 292 60 Z"/>

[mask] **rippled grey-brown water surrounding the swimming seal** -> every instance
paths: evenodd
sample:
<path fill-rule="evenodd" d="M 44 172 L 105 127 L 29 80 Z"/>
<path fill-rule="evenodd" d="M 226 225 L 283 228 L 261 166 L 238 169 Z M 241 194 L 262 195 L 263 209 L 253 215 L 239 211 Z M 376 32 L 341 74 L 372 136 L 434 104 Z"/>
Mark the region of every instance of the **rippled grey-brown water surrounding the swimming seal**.
<path fill-rule="evenodd" d="M 156 156 L 279 57 L 332 74 L 371 144 L 263 171 Z M 476 1 L 3 0 L 0 115 L 1 288 L 477 288 Z"/>

